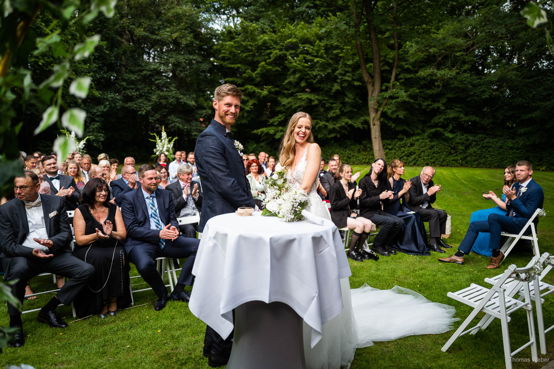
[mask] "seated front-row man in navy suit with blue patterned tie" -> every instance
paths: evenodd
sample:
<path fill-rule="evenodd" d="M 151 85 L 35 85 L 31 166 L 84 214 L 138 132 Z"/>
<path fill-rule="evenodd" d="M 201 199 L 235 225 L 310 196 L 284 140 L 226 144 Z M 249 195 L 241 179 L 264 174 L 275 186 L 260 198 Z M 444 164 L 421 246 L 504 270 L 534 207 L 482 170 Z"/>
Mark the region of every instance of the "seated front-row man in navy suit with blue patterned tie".
<path fill-rule="evenodd" d="M 158 297 L 154 310 L 165 308 L 168 299 L 166 286 L 156 269 L 156 258 L 187 258 L 170 298 L 188 303 L 191 295 L 183 288 L 192 285 L 192 266 L 200 240 L 179 236 L 171 194 L 158 189 L 156 168 L 152 164 L 141 165 L 139 181 L 141 186 L 126 193 L 121 202 L 127 228 L 125 250 Z"/>

